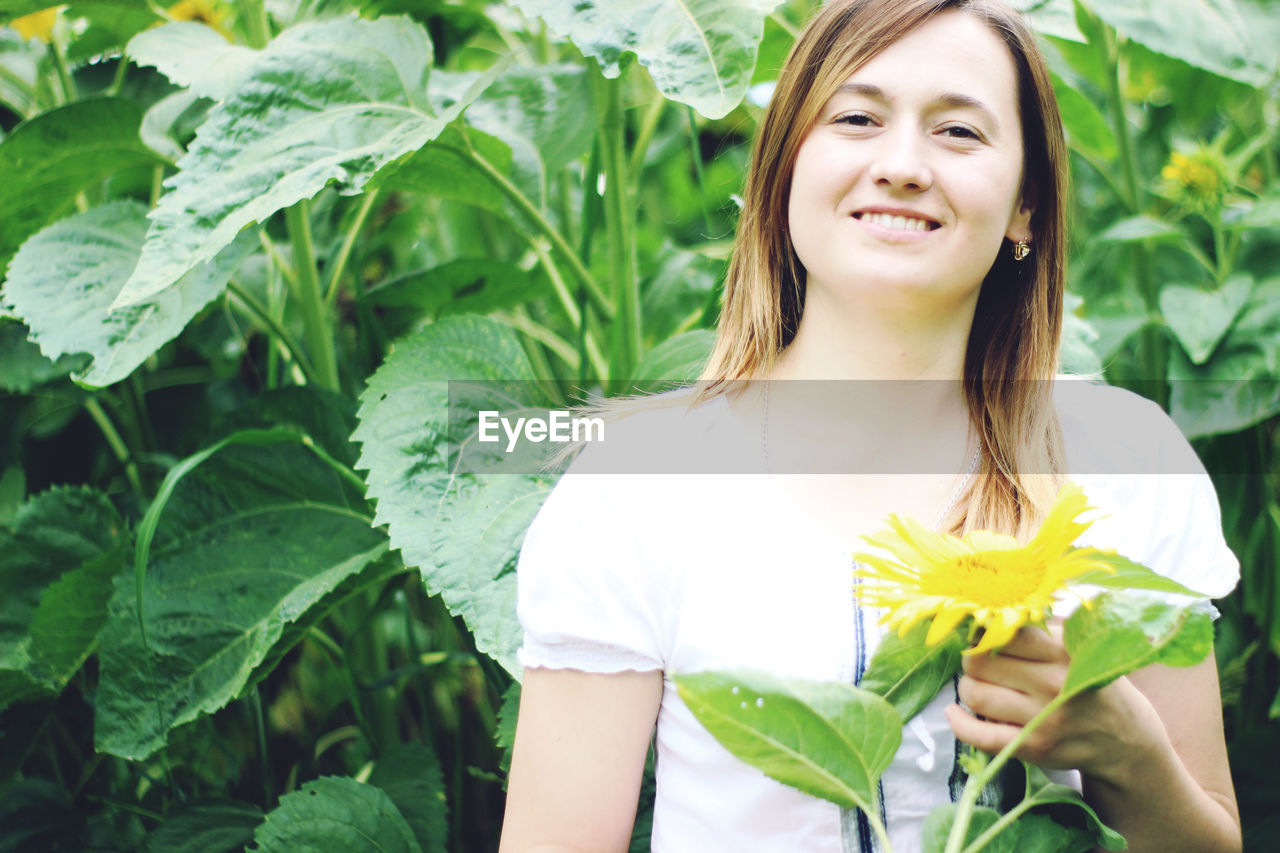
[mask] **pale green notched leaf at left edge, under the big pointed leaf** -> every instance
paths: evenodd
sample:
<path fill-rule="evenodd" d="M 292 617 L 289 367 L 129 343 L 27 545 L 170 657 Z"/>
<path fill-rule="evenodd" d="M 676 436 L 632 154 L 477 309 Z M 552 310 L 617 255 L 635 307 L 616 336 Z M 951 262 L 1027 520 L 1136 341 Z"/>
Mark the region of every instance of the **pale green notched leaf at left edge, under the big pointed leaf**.
<path fill-rule="evenodd" d="M 6 306 L 31 327 L 44 353 L 58 359 L 84 352 L 92 359 L 74 374 L 77 382 L 110 386 L 128 377 L 223 292 L 255 245 L 244 234 L 172 288 L 113 311 L 113 300 L 138 263 L 146 214 L 136 201 L 76 214 L 33 236 L 9 264 Z"/>

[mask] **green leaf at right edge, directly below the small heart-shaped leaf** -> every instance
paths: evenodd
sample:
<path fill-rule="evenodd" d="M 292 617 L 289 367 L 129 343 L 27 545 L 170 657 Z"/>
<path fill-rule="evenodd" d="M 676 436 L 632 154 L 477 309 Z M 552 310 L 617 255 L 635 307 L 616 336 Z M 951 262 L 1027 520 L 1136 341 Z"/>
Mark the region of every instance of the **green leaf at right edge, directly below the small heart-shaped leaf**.
<path fill-rule="evenodd" d="M 1188 438 L 1234 433 L 1280 412 L 1280 278 L 1258 282 L 1202 365 L 1174 350 L 1170 414 Z"/>

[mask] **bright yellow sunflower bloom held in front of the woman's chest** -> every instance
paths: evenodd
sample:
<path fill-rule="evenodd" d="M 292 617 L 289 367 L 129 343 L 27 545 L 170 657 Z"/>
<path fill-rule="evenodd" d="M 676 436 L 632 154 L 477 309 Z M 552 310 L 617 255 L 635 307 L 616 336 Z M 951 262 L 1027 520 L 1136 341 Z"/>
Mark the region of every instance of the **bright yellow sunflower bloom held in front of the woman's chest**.
<path fill-rule="evenodd" d="M 1043 625 L 1057 593 L 1083 574 L 1114 571 L 1097 557 L 1114 552 L 1071 546 L 1091 521 L 1084 491 L 1069 483 L 1036 537 L 1025 546 L 1002 533 L 974 530 L 964 538 L 929 530 L 919 521 L 888 516 L 888 528 L 864 537 L 891 555 L 855 553 L 854 573 L 864 605 L 884 607 L 883 621 L 900 634 L 933 617 L 925 643 L 940 643 L 966 616 L 982 628 L 982 640 L 966 653 L 1000 648 L 1023 625 Z"/>

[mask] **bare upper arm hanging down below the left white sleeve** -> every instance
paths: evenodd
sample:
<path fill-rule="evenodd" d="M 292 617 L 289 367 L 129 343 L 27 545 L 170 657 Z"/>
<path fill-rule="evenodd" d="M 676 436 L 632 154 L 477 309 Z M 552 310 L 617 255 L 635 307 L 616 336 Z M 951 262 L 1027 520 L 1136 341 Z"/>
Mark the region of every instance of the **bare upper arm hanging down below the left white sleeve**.
<path fill-rule="evenodd" d="M 530 669 L 500 853 L 626 850 L 662 672 Z"/>

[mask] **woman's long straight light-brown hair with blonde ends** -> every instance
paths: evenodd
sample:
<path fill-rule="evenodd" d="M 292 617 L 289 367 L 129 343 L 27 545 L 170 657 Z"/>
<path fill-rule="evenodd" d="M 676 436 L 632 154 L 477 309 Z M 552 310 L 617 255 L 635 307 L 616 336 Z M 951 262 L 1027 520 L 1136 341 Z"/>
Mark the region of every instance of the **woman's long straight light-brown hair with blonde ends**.
<path fill-rule="evenodd" d="M 980 461 L 968 500 L 945 524 L 1025 537 L 1061 479 L 1061 428 L 1050 380 L 1062 327 L 1068 155 L 1034 36 L 998 0 L 833 0 L 801 33 L 755 141 L 701 397 L 724 393 L 733 380 L 768 377 L 795 338 L 805 270 L 791 243 L 787 201 L 809 128 L 854 70 L 950 9 L 978 15 L 1009 49 L 1023 128 L 1023 188 L 1036 204 L 1030 257 L 1012 260 L 1005 241 L 978 297 L 964 391 Z"/>

